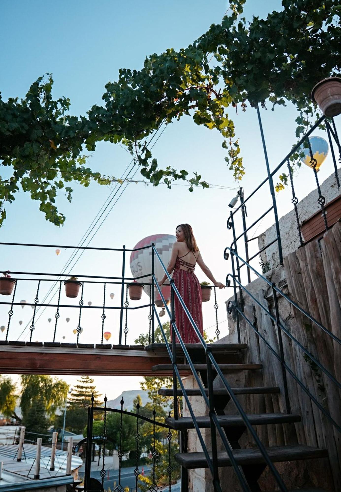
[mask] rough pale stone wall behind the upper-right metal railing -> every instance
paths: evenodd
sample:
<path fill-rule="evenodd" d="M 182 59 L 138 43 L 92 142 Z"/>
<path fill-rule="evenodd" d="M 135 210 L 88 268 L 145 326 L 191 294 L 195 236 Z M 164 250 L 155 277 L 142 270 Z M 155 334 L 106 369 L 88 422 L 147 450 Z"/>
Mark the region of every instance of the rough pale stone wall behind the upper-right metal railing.
<path fill-rule="evenodd" d="M 341 168 L 339 169 L 339 179 L 341 179 Z M 326 204 L 340 195 L 341 190 L 337 186 L 335 174 L 333 173 L 321 184 L 322 195 L 326 199 Z M 318 212 L 321 207 L 317 202 L 318 193 L 317 189 L 311 191 L 305 198 L 303 198 L 297 205 L 300 224 L 311 215 Z M 291 210 L 288 214 L 283 215 L 279 219 L 279 229 L 282 242 L 283 258 L 289 253 L 292 253 L 300 246 L 300 239 L 296 225 L 295 210 Z M 269 229 L 258 236 L 258 246 L 262 249 L 267 244 L 276 239 L 276 229 L 273 224 Z M 270 268 L 275 268 L 279 265 L 278 248 L 277 243 L 269 246 L 266 251 L 262 253 L 262 258 L 268 261 Z"/>

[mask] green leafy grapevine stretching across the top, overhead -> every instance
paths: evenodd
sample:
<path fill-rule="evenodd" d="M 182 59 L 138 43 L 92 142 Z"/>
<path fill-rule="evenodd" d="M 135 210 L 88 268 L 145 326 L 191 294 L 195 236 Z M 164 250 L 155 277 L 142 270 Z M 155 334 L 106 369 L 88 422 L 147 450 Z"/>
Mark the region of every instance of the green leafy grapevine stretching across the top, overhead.
<path fill-rule="evenodd" d="M 46 219 L 60 226 L 65 215 L 55 205 L 58 190 L 65 189 L 71 201 L 69 182 L 119 181 L 86 167 L 83 152 L 94 151 L 102 140 L 125 145 L 155 186 L 163 181 L 170 188 L 184 180 L 190 191 L 208 187 L 198 173 L 189 178 L 185 169 L 162 169 L 148 148 L 148 138 L 163 123 L 184 115 L 221 133 L 237 181 L 245 171 L 228 108 L 245 111 L 258 102 L 265 108 L 267 101 L 274 108 L 291 101 L 299 111 L 296 134 L 304 134 L 318 115 L 312 87 L 340 75 L 339 0 L 282 0 L 281 11 L 251 21 L 241 17 L 245 0 L 229 2 L 222 23 L 187 48 L 153 54 L 138 71 L 122 68 L 117 82 L 105 86 L 104 106 L 92 106 L 87 117 L 68 115 L 69 99 L 53 100 L 50 74 L 37 79 L 24 99 L 0 99 L 0 159 L 13 171 L 0 179 L 0 224 L 3 203 L 15 199 L 19 184 L 40 202 Z"/>

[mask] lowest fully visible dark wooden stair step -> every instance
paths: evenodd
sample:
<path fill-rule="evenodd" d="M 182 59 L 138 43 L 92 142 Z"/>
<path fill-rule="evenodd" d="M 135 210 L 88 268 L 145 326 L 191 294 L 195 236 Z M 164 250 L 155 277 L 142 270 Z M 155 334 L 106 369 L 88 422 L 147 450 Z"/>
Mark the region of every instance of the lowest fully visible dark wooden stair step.
<path fill-rule="evenodd" d="M 266 451 L 273 462 L 310 460 L 312 458 L 326 458 L 326 449 L 314 448 L 312 446 L 272 446 Z M 259 449 L 234 449 L 233 455 L 239 465 L 255 465 L 265 463 Z M 212 458 L 211 453 L 209 453 Z M 204 453 L 177 453 L 175 460 L 184 468 L 207 468 Z M 226 452 L 218 452 L 218 466 L 231 466 L 231 461 Z"/>

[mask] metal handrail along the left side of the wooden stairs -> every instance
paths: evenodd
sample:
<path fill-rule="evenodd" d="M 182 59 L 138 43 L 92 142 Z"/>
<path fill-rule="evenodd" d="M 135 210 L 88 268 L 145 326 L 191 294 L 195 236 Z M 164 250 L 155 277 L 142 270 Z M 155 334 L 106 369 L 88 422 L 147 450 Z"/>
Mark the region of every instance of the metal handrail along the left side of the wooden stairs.
<path fill-rule="evenodd" d="M 218 363 L 217 363 L 217 362 L 216 362 L 216 360 L 214 359 L 214 357 L 213 357 L 213 355 L 212 355 L 212 353 L 211 353 L 211 351 L 210 351 L 209 347 L 207 346 L 207 344 L 206 344 L 206 342 L 205 342 L 205 340 L 204 340 L 204 338 L 203 338 L 202 334 L 201 334 L 201 333 L 200 333 L 200 331 L 199 331 L 199 328 L 197 327 L 196 323 L 194 322 L 194 320 L 193 320 L 193 318 L 192 318 L 192 316 L 191 316 L 191 313 L 189 312 L 189 310 L 188 310 L 188 308 L 186 307 L 186 305 L 185 305 L 185 303 L 184 303 L 183 299 L 181 298 L 180 293 L 179 293 L 178 289 L 176 288 L 176 286 L 175 286 L 175 284 L 174 284 L 174 280 L 171 278 L 170 274 L 168 273 L 168 271 L 167 271 L 167 269 L 166 269 L 165 265 L 163 264 L 163 262 L 162 262 L 162 260 L 161 260 L 161 258 L 160 258 L 160 255 L 158 254 L 158 252 L 157 252 L 157 250 L 156 250 L 156 248 L 155 248 L 155 246 L 154 246 L 154 245 L 152 245 L 152 248 L 153 248 L 153 251 L 154 251 L 154 253 L 156 254 L 156 256 L 157 256 L 157 258 L 158 258 L 158 260 L 159 260 L 159 262 L 160 262 L 160 264 L 161 264 L 161 266 L 162 266 L 162 268 L 163 268 L 163 270 L 164 270 L 164 271 L 165 271 L 165 273 L 166 273 L 166 277 L 167 277 L 167 278 L 170 280 L 170 282 L 171 282 L 171 292 L 173 293 L 173 295 L 174 295 L 174 293 L 176 294 L 176 296 L 177 296 L 177 298 L 178 298 L 178 300 L 179 300 L 179 303 L 180 303 L 181 307 L 183 308 L 183 310 L 184 310 L 184 312 L 185 312 L 185 314 L 186 314 L 187 318 L 189 319 L 189 321 L 190 321 L 190 323 L 191 323 L 191 325 L 192 325 L 192 327 L 193 327 L 193 329 L 194 329 L 194 331 L 195 331 L 196 335 L 198 336 L 198 338 L 199 338 L 199 340 L 200 340 L 201 344 L 203 345 L 203 347 L 204 347 L 204 349 L 205 349 L 206 358 L 210 361 L 210 363 L 212 364 L 212 366 L 213 366 L 213 367 L 214 367 L 214 369 L 216 370 L 217 374 L 218 374 L 218 375 L 219 375 L 219 377 L 221 378 L 221 380 L 222 380 L 222 382 L 223 382 L 223 384 L 224 384 L 225 388 L 227 389 L 227 391 L 228 391 L 228 393 L 229 393 L 229 395 L 230 395 L 230 397 L 231 397 L 231 400 L 233 400 L 233 402 L 235 403 L 235 406 L 236 406 L 237 410 L 239 411 L 239 414 L 241 415 L 241 417 L 242 417 L 242 419 L 243 419 L 243 422 L 244 422 L 245 426 L 247 427 L 248 431 L 251 433 L 252 437 L 253 437 L 253 438 L 254 438 L 254 440 L 255 440 L 255 443 L 257 444 L 257 446 L 258 446 L 258 448 L 259 448 L 259 450 L 260 450 L 260 452 L 261 452 L 261 454 L 262 454 L 262 456 L 263 456 L 263 458 L 264 458 L 264 460 L 266 461 L 267 465 L 269 466 L 270 470 L 272 471 L 273 476 L 274 476 L 274 478 L 275 478 L 275 480 L 276 480 L 276 482 L 277 482 L 277 485 L 279 486 L 280 490 L 281 490 L 282 492 L 287 492 L 287 488 L 285 487 L 285 485 L 284 485 L 284 483 L 283 483 L 282 479 L 280 478 L 280 476 L 279 476 L 279 474 L 278 474 L 278 472 L 277 472 L 276 468 L 274 467 L 273 462 L 270 460 L 270 457 L 269 457 L 269 455 L 268 455 L 268 453 L 267 453 L 267 451 L 266 451 L 266 449 L 265 449 L 264 445 L 263 445 L 263 444 L 262 444 L 262 442 L 260 441 L 260 439 L 259 439 L 259 437 L 257 436 L 256 432 L 254 431 L 254 429 L 253 429 L 252 425 L 250 424 L 250 421 L 249 421 L 249 419 L 247 418 L 247 415 L 245 414 L 245 412 L 244 412 L 244 410 L 242 409 L 242 407 L 241 407 L 241 405 L 240 405 L 239 401 L 237 400 L 236 395 L 235 395 L 235 394 L 234 394 L 234 392 L 232 391 L 231 386 L 229 385 L 229 383 L 228 383 L 228 382 L 227 382 L 227 380 L 225 379 L 225 377 L 224 377 L 223 373 L 221 372 L 221 370 L 220 370 L 220 368 L 219 368 Z M 170 312 L 169 308 L 167 307 L 166 300 L 165 300 L 165 298 L 164 298 L 164 296 L 163 296 L 163 294 L 162 294 L 162 291 L 161 291 L 161 289 L 160 289 L 160 287 L 159 287 L 159 285 L 158 285 L 158 283 L 157 283 L 157 281 L 156 281 L 156 278 L 155 278 L 154 274 L 153 274 L 153 279 L 154 279 L 154 281 L 155 281 L 155 284 L 156 284 L 156 286 L 157 286 L 157 289 L 158 289 L 158 291 L 159 291 L 159 294 L 160 294 L 160 296 L 161 296 L 161 298 L 162 298 L 162 300 L 163 300 L 163 302 L 164 302 L 164 304 L 165 304 L 165 308 L 167 309 L 167 312 L 168 312 L 168 314 L 169 314 L 170 318 L 172 319 L 171 312 Z M 154 308 L 154 311 L 155 311 L 155 308 Z M 157 315 L 157 313 L 156 313 L 156 315 Z M 161 327 L 161 323 L 160 323 L 159 317 L 157 316 L 157 318 L 158 318 L 158 322 L 159 322 L 160 327 Z M 240 473 L 240 470 L 239 470 L 238 464 L 237 464 L 237 462 L 236 462 L 236 460 L 235 460 L 235 458 L 234 458 L 234 455 L 233 455 L 233 453 L 232 453 L 232 450 L 231 450 L 231 448 L 230 448 L 230 446 L 229 446 L 229 443 L 228 443 L 228 441 L 227 441 L 227 439 L 226 439 L 226 435 L 224 434 L 224 431 L 222 430 L 221 426 L 219 425 L 219 422 L 218 422 L 218 419 L 217 419 L 217 415 L 216 415 L 216 413 L 215 413 L 215 412 L 212 412 L 212 409 L 211 409 L 211 407 L 210 407 L 210 401 L 212 401 L 212 398 L 213 398 L 213 395 L 212 395 L 212 389 L 213 389 L 213 388 L 212 388 L 212 386 L 211 386 L 211 385 L 209 385 L 209 387 L 208 387 L 208 397 L 207 397 L 207 395 L 206 395 L 206 393 L 205 393 L 205 388 L 203 387 L 203 384 L 202 384 L 202 382 L 200 381 L 199 376 L 198 376 L 198 374 L 197 374 L 197 372 L 196 372 L 196 370 L 195 370 L 195 368 L 194 368 L 194 364 L 193 364 L 193 362 L 192 362 L 192 360 L 191 360 L 191 358 L 190 358 L 190 356 L 189 356 L 189 353 L 188 353 L 188 351 L 187 351 L 187 349 L 186 349 L 185 343 L 183 342 L 183 340 L 182 340 L 182 338 L 181 338 L 181 336 L 180 336 L 180 333 L 179 333 L 179 331 L 178 331 L 178 329 L 177 329 L 177 326 L 176 326 L 175 321 L 172 321 L 172 322 L 171 322 L 171 328 L 172 328 L 172 335 L 173 335 L 173 337 L 172 337 L 172 343 L 173 343 L 173 345 L 175 345 L 175 337 L 174 337 L 174 335 L 176 334 L 177 338 L 179 339 L 179 342 L 180 342 L 180 345 L 181 345 L 181 347 L 182 347 L 182 350 L 184 351 L 184 354 L 185 354 L 185 357 L 186 357 L 186 359 L 187 359 L 187 362 L 188 362 L 188 364 L 189 364 L 189 366 L 190 366 L 190 368 L 191 368 L 191 370 L 192 370 L 192 372 L 193 372 L 193 375 L 194 375 L 194 377 L 195 377 L 195 379 L 196 379 L 196 381 L 197 381 L 197 383 L 198 383 L 198 386 L 199 386 L 199 389 L 200 389 L 200 391 L 201 391 L 201 393 L 202 393 L 202 396 L 203 396 L 203 398 L 204 398 L 204 401 L 205 401 L 205 403 L 206 403 L 207 407 L 208 407 L 208 408 L 209 408 L 209 410 L 210 410 L 210 411 L 209 411 L 209 418 L 210 418 L 210 421 L 211 421 L 211 425 L 213 425 L 213 424 L 214 424 L 215 428 L 216 428 L 216 429 L 217 429 L 217 431 L 219 432 L 219 435 L 220 435 L 220 437 L 221 437 L 221 439 L 222 439 L 222 441 L 223 441 L 224 447 L 225 447 L 225 449 L 226 449 L 226 451 L 227 451 L 227 454 L 228 454 L 228 456 L 229 456 L 229 458 L 230 458 L 230 460 L 231 460 L 231 463 L 232 463 L 232 465 L 233 465 L 233 468 L 234 468 L 234 470 L 236 471 L 236 474 L 237 474 L 237 476 L 238 476 L 238 478 L 239 478 L 239 483 L 240 483 L 240 485 L 242 486 L 242 488 L 243 488 L 243 490 L 244 490 L 244 491 L 249 491 L 250 489 L 249 489 L 248 485 L 246 484 L 244 477 L 243 477 L 243 476 L 241 475 L 241 473 Z M 185 390 L 184 385 L 183 385 L 183 383 L 182 383 L 182 381 L 181 381 L 180 374 L 179 374 L 179 371 L 178 371 L 177 366 L 176 366 L 176 360 L 174 360 L 174 359 L 175 359 L 175 353 L 174 353 L 174 349 L 175 349 L 175 347 L 173 347 L 173 351 L 171 351 L 170 346 L 169 346 L 168 341 L 167 341 L 167 338 L 165 337 L 165 333 L 164 333 L 164 331 L 163 331 L 162 329 L 161 329 L 161 333 L 162 333 L 162 335 L 163 335 L 163 338 L 165 339 L 165 343 L 166 343 L 166 347 L 167 347 L 167 350 L 168 350 L 168 352 L 169 352 L 169 355 L 170 355 L 170 357 L 171 357 L 171 358 L 172 358 L 172 360 L 173 360 L 173 363 L 172 363 L 173 370 L 175 371 L 175 373 L 176 373 L 176 377 L 177 377 L 177 378 L 178 378 L 178 380 L 179 380 L 179 383 L 180 383 L 180 386 L 181 386 L 181 389 L 182 389 L 183 395 L 184 395 L 185 400 L 186 400 L 186 402 L 187 402 L 187 404 L 188 404 L 188 408 L 190 409 L 190 413 L 191 413 L 191 417 L 192 417 L 192 420 L 193 420 L 193 424 L 194 424 L 194 426 L 195 426 L 195 429 L 196 429 L 196 431 L 197 431 L 197 434 L 198 434 L 199 439 L 200 439 L 200 441 L 201 441 L 201 444 L 202 444 L 202 446 L 203 446 L 203 442 L 202 442 L 202 441 L 203 441 L 203 439 L 202 439 L 202 437 L 201 437 L 201 432 L 200 432 L 199 427 L 198 427 L 198 425 L 197 425 L 197 422 L 196 422 L 196 418 L 195 418 L 195 415 L 194 415 L 193 409 L 192 409 L 191 405 L 189 404 L 189 400 L 188 400 L 187 395 L 186 395 L 186 390 Z M 208 370 L 209 370 L 209 368 L 208 368 Z M 176 399 L 177 399 L 177 394 L 176 394 L 176 391 L 174 391 L 174 402 L 176 402 Z M 174 409 L 175 409 L 175 407 L 176 407 L 176 404 L 174 405 Z M 211 437 L 212 437 L 212 436 L 211 436 Z M 203 446 L 203 449 L 204 449 L 204 446 Z M 206 449 L 206 447 L 205 447 L 205 449 Z M 214 451 L 215 451 L 215 453 L 216 453 L 216 449 L 215 449 L 215 450 L 213 450 L 213 449 L 212 449 L 212 453 L 213 453 Z M 205 450 L 204 450 L 204 453 L 205 453 Z M 208 454 L 208 453 L 207 453 L 207 454 Z M 212 474 L 213 474 L 213 482 L 214 482 L 214 485 L 216 486 L 216 485 L 217 485 L 217 481 L 218 481 L 218 483 L 219 483 L 219 478 L 218 478 L 217 476 L 215 476 L 215 475 L 216 475 L 216 472 L 214 473 L 214 470 L 213 470 L 213 463 L 212 463 L 212 464 L 210 464 L 210 461 L 211 461 L 211 460 L 210 460 L 210 458 L 209 458 L 209 455 L 207 456 L 207 454 L 205 453 L 206 461 L 207 461 L 207 464 L 209 465 L 209 468 L 210 468 L 210 470 L 211 470 L 211 472 L 212 472 Z M 208 458 L 208 459 L 207 459 L 207 458 Z M 219 487 L 219 490 L 220 490 L 220 487 Z"/>

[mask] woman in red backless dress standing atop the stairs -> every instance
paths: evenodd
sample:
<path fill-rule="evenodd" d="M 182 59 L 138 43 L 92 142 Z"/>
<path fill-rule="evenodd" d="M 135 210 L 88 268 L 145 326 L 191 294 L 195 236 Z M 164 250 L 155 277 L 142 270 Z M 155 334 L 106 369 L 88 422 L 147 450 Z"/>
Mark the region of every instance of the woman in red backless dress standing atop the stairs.
<path fill-rule="evenodd" d="M 216 287 L 223 289 L 224 285 L 216 281 L 212 272 L 205 265 L 193 235 L 192 227 L 189 224 L 178 225 L 175 236 L 176 243 L 171 248 L 171 260 L 168 264 L 167 271 L 170 275 L 174 271 L 173 279 L 175 286 L 199 328 L 200 333 L 203 335 L 202 293 L 199 280 L 194 273 L 196 264 L 198 263 L 205 275 Z M 158 284 L 160 286 L 163 285 L 166 279 L 167 276 L 165 274 Z M 198 343 L 200 340 L 176 295 L 174 296 L 174 305 L 175 323 L 181 338 L 185 343 Z M 176 337 L 176 342 L 178 341 Z"/>

